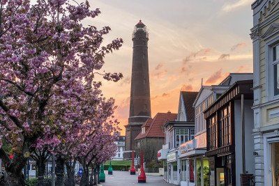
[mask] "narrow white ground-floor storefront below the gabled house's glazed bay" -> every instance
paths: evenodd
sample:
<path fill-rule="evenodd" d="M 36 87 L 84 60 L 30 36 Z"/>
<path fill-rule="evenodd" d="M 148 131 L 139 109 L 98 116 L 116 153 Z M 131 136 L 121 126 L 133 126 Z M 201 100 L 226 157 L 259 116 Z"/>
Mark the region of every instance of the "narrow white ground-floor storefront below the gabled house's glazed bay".
<path fill-rule="evenodd" d="M 177 150 L 167 155 L 167 183 L 172 183 L 174 185 L 179 185 L 180 183 L 180 165 L 177 157 Z"/>

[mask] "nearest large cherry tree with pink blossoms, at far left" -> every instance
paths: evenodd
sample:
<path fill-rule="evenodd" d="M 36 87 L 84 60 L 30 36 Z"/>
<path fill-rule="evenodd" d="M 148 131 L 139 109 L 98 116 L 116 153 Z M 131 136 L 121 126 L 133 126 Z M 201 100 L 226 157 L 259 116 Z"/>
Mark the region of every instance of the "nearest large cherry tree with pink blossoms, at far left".
<path fill-rule="evenodd" d="M 52 146 L 61 143 L 59 135 L 47 138 L 53 127 L 65 127 L 54 121 L 56 112 L 63 108 L 53 109 L 51 104 L 58 99 L 74 104 L 68 101 L 79 98 L 84 84 L 87 88 L 100 85 L 94 82 L 96 75 L 114 82 L 121 79 L 121 74 L 100 70 L 105 54 L 119 49 L 123 41 L 116 39 L 103 46 L 110 27 L 98 30 L 82 24 L 99 14 L 99 9 L 90 10 L 88 1 L 38 0 L 31 4 L 29 0 L 0 0 L 0 157 L 6 168 L 3 184 L 24 185 L 22 169 L 31 153 L 42 141 Z M 70 114 L 61 117 L 71 123 Z M 2 148 L 2 141 L 8 142 L 13 160 Z"/>

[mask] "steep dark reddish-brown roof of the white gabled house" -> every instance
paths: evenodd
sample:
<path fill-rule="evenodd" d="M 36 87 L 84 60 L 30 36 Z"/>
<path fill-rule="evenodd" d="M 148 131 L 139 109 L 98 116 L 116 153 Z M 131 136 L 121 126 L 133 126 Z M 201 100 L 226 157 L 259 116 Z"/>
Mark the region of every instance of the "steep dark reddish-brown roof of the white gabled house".
<path fill-rule="evenodd" d="M 195 108 L 193 107 L 193 103 L 197 98 L 198 92 L 181 91 L 180 93 L 186 109 L 187 121 L 195 121 Z"/>

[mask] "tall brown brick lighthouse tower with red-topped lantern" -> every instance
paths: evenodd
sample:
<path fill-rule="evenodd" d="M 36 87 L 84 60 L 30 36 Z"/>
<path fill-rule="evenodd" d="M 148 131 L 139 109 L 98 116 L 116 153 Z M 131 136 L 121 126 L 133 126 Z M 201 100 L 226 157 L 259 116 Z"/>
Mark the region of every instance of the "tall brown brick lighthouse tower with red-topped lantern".
<path fill-rule="evenodd" d="M 130 89 L 130 115 L 126 125 L 125 150 L 135 150 L 135 137 L 141 132 L 142 124 L 151 118 L 150 88 L 149 88 L 149 33 L 142 20 L 135 25 L 133 32 L 133 67 Z M 125 158 L 130 153 L 124 154 Z"/>

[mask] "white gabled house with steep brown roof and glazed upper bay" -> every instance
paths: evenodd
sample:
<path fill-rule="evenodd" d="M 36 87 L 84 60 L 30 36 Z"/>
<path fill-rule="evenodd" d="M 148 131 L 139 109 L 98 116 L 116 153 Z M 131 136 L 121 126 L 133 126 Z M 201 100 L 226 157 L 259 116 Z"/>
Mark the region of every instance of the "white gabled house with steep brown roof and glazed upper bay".
<path fill-rule="evenodd" d="M 158 150 L 158 160 L 164 164 L 164 179 L 167 183 L 180 185 L 181 163 L 179 146 L 194 138 L 195 111 L 193 102 L 197 92 L 181 91 L 179 95 L 179 109 L 176 121 L 167 122 L 163 126 L 165 144 Z"/>

